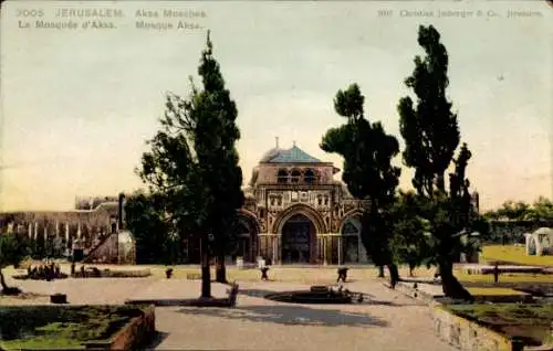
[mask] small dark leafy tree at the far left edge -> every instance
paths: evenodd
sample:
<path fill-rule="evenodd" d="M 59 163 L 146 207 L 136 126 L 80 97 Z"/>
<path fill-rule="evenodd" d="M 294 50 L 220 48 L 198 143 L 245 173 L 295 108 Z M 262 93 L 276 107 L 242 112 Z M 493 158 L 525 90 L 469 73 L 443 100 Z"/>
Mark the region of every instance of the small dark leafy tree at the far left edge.
<path fill-rule="evenodd" d="M 4 280 L 2 269 L 19 265 L 19 263 L 31 254 L 29 240 L 21 234 L 0 234 L 0 286 L 3 294 L 17 294 L 20 290 L 10 288 Z"/>

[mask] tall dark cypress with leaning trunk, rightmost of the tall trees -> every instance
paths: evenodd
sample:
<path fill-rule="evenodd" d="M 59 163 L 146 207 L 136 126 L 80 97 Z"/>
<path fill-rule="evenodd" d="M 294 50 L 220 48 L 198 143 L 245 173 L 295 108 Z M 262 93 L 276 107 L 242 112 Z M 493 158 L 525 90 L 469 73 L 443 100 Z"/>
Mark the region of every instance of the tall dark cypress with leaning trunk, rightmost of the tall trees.
<path fill-rule="evenodd" d="M 452 104 L 446 95 L 449 59 L 440 34 L 432 25 L 421 25 L 418 43 L 426 56 L 415 57 L 413 75 L 405 79 L 417 103 L 403 97 L 398 104 L 400 132 L 406 145 L 403 158 L 406 166 L 415 169 L 413 185 L 419 195 L 421 215 L 431 224 L 444 292 L 471 299 L 452 273 L 456 253 L 461 247 L 459 233 L 467 231 L 474 217 L 466 177 L 471 153 L 463 143 L 455 159 L 460 132 L 457 115 L 451 111 Z M 449 174 L 448 190 L 446 171 L 452 162 L 455 171 Z"/>

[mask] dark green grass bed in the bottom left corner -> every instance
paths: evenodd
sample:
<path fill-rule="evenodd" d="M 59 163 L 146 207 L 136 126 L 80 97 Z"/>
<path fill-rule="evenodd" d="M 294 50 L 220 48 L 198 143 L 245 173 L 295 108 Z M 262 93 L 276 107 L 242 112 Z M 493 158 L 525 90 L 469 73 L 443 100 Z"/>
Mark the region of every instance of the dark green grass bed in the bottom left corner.
<path fill-rule="evenodd" d="M 106 341 L 143 312 L 132 306 L 10 306 L 0 308 L 2 350 L 84 350 Z"/>

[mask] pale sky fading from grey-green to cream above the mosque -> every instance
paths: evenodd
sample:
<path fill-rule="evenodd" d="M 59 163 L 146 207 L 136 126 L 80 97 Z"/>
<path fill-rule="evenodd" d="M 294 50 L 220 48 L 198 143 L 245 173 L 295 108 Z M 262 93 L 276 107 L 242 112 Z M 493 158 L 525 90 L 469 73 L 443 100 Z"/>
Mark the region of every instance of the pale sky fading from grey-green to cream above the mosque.
<path fill-rule="evenodd" d="M 124 18 L 103 19 L 115 29 L 84 30 L 94 18 L 55 17 L 79 8 L 119 10 Z M 36 19 L 18 17 L 24 9 L 42 10 L 45 22 L 72 20 L 79 29 L 36 28 Z M 148 22 L 175 28 L 136 28 L 140 9 L 158 12 Z M 164 9 L 207 17 L 184 18 L 202 29 L 179 30 Z M 472 14 L 438 18 L 446 10 Z M 509 11 L 531 13 L 513 18 Z M 0 211 L 69 210 L 75 195 L 143 187 L 134 169 L 159 127 L 164 94 L 187 95 L 188 75 L 199 82 L 207 29 L 239 110 L 244 183 L 274 137 L 281 147 L 295 140 L 342 168 L 341 157 L 319 142 L 344 121 L 333 98 L 355 82 L 368 118 L 382 120 L 403 147 L 396 106 L 409 94 L 403 81 L 421 54 L 418 25 L 434 24 L 450 55 L 449 97 L 473 153 L 468 172 L 481 208 L 551 198 L 552 12 L 545 1 L 4 2 Z M 25 21 L 29 28 L 20 28 Z M 404 168 L 403 189 L 410 177 Z"/>

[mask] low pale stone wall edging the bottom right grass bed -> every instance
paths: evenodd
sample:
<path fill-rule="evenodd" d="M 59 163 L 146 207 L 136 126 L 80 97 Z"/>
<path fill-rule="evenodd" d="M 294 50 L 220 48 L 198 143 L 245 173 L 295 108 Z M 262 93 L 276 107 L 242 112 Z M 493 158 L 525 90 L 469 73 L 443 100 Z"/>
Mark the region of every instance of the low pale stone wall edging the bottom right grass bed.
<path fill-rule="evenodd" d="M 440 305 L 431 306 L 434 330 L 459 350 L 515 351 L 522 350 L 508 337 L 448 311 Z"/>

